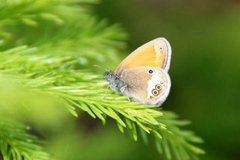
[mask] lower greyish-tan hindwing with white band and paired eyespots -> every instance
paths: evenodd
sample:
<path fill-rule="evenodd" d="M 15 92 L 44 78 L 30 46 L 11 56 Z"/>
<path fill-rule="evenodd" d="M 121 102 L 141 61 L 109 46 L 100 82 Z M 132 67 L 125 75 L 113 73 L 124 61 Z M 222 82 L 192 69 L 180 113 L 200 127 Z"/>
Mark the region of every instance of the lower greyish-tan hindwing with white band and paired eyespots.
<path fill-rule="evenodd" d="M 127 84 L 123 94 L 148 105 L 161 105 L 171 86 L 168 73 L 160 67 L 126 69 L 121 73 L 121 79 Z"/>

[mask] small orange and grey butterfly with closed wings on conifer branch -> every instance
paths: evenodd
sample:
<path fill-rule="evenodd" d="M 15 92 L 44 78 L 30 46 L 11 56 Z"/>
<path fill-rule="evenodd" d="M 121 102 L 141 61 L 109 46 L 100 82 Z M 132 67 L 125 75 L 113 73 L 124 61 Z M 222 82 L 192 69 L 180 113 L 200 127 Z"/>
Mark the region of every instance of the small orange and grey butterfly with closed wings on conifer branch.
<path fill-rule="evenodd" d="M 133 51 L 114 71 L 105 72 L 105 79 L 117 93 L 142 104 L 160 106 L 171 88 L 171 52 L 165 38 L 156 38 Z"/>

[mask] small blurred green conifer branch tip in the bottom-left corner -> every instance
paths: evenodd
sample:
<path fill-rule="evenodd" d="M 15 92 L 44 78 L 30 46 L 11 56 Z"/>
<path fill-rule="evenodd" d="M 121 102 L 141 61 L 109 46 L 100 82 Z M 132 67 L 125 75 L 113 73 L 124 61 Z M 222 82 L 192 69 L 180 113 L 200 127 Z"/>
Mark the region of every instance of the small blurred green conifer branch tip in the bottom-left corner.
<path fill-rule="evenodd" d="M 0 151 L 4 160 L 49 160 L 35 136 L 26 132 L 22 124 L 3 120 L 0 121 Z"/>

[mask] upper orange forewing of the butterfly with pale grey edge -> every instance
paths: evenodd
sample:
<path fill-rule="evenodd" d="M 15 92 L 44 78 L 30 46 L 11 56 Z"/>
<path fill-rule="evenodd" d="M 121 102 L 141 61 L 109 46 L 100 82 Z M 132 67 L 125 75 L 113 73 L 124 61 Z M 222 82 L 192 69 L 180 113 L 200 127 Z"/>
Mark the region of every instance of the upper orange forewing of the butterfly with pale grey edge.
<path fill-rule="evenodd" d="M 115 70 L 116 73 L 126 68 L 160 67 L 168 71 L 171 58 L 171 46 L 165 38 L 156 38 L 133 51 Z"/>

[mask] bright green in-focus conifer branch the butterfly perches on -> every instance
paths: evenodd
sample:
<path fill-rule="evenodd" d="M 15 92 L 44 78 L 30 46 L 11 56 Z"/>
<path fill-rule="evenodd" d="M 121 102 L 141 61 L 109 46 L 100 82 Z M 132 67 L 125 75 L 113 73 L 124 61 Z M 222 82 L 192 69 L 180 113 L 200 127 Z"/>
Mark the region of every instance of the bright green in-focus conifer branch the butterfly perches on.
<path fill-rule="evenodd" d="M 99 118 L 103 124 L 106 123 L 107 117 L 111 117 L 116 121 L 119 130 L 121 132 L 129 130 L 134 140 L 138 139 L 139 134 L 145 140 L 147 135 L 154 135 L 159 152 L 164 153 L 168 159 L 172 156 L 175 159 L 195 159 L 196 155 L 204 153 L 192 144 L 200 143 L 202 140 L 191 132 L 180 130 L 179 126 L 185 125 L 186 122 L 176 120 L 173 113 L 139 105 L 130 102 L 124 96 L 112 93 L 107 88 L 107 83 L 103 81 L 103 77 L 91 71 L 71 69 L 69 65 L 61 66 L 63 62 L 70 66 L 74 65 L 72 59 L 40 55 L 34 56 L 38 63 L 31 62 L 33 55 L 28 54 L 29 50 L 32 49 L 20 47 L 6 51 L 5 54 L 11 52 L 14 56 L 15 51 L 16 54 L 19 51 L 26 52 L 22 61 L 28 62 L 31 70 L 26 70 L 26 66 L 16 65 L 19 58 L 15 58 L 15 61 L 11 58 L 12 61 L 9 63 L 16 66 L 5 63 L 6 66 L 13 68 L 7 69 L 6 66 L 2 66 L 4 70 L 1 70 L 2 74 L 0 72 L 2 78 L 11 77 L 12 83 L 19 85 L 22 92 L 25 88 L 26 92 L 32 91 L 59 98 L 74 116 L 78 115 L 76 108 L 80 108 L 93 118 Z M 52 62 L 48 64 L 50 70 L 44 69 L 47 66 L 45 62 L 49 59 Z M 18 71 L 18 74 L 9 76 L 14 70 Z"/>

